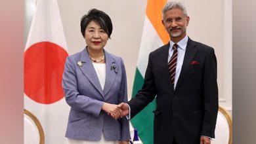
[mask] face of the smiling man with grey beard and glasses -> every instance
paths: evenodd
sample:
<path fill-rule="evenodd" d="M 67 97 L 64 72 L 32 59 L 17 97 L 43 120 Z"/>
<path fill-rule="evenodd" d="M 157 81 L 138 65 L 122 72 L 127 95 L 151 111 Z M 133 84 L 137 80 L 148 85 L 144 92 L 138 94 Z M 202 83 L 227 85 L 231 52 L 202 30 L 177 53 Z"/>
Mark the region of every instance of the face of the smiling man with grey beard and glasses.
<path fill-rule="evenodd" d="M 184 16 L 181 9 L 171 9 L 165 12 L 162 24 L 165 26 L 171 39 L 181 41 L 186 36 L 186 27 L 188 26 L 189 16 Z"/>

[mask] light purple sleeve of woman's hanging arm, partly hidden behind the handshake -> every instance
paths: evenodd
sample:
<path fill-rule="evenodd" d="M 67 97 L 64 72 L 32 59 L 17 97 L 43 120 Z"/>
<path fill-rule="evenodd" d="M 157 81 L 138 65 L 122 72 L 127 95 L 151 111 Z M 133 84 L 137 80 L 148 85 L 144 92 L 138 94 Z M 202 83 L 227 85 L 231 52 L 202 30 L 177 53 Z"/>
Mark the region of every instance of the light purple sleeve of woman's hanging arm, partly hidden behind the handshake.
<path fill-rule="evenodd" d="M 120 58 L 121 59 L 121 58 Z M 121 59 L 121 91 L 119 93 L 119 103 L 128 101 L 127 98 L 127 77 L 125 71 L 125 65 L 123 64 L 123 60 Z M 121 118 L 121 141 L 129 141 L 130 139 L 130 129 L 129 129 L 129 121 L 127 118 Z"/>

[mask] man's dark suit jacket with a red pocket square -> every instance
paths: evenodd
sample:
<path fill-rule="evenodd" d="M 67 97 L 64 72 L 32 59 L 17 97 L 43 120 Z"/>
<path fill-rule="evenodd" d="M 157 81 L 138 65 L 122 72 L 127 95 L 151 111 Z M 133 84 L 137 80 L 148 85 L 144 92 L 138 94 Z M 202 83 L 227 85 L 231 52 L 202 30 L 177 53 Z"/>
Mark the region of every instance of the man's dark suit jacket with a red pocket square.
<path fill-rule="evenodd" d="M 188 44 L 175 90 L 168 71 L 169 44 L 151 52 L 144 84 L 128 102 L 131 118 L 156 98 L 154 144 L 199 144 L 200 136 L 215 137 L 218 87 L 217 60 L 213 48 L 192 41 Z"/>

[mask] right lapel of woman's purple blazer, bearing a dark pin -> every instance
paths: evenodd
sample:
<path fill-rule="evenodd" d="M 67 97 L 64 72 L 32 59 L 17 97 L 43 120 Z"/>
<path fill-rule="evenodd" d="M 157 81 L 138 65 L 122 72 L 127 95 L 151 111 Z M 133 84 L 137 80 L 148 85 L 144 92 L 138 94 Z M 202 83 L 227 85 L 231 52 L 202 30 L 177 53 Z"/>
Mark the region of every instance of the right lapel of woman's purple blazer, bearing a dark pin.
<path fill-rule="evenodd" d="M 106 52 L 106 50 L 105 50 L 105 56 L 106 56 L 105 57 L 106 58 L 106 81 L 105 81 L 103 92 L 106 95 L 108 94 L 108 92 L 110 91 L 110 88 L 114 84 L 117 71 L 120 67 L 118 67 L 118 65 L 115 63 L 114 58 L 112 58 L 112 56 L 108 52 Z"/>

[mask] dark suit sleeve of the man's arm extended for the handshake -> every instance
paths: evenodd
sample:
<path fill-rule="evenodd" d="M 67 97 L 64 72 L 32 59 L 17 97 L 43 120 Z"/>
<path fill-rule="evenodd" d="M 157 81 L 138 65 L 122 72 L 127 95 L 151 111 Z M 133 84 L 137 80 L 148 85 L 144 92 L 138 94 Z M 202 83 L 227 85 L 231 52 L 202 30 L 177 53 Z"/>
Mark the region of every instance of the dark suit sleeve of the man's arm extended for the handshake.
<path fill-rule="evenodd" d="M 144 84 L 136 96 L 128 102 L 128 105 L 131 108 L 131 118 L 135 117 L 137 113 L 142 111 L 142 109 L 156 97 L 156 87 L 152 69 L 152 53 L 150 53 L 144 77 Z"/>

